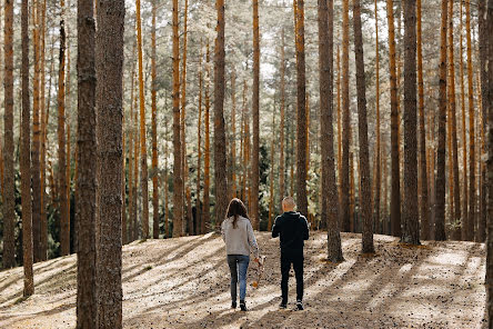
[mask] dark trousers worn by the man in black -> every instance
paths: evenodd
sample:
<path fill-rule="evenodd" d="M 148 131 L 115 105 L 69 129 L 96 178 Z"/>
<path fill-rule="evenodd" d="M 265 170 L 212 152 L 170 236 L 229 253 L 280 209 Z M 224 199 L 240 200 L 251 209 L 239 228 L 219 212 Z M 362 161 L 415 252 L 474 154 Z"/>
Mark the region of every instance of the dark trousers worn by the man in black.
<path fill-rule="evenodd" d="M 296 300 L 303 300 L 303 250 L 281 251 L 281 291 L 282 302 L 288 303 L 288 280 L 290 278 L 291 265 L 293 265 L 296 278 Z"/>

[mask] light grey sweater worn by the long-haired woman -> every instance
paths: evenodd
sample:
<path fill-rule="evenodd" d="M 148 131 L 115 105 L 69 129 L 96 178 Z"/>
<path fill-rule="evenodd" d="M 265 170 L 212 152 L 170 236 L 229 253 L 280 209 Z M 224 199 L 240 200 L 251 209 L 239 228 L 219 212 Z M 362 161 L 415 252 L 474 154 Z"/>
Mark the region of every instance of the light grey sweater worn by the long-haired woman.
<path fill-rule="evenodd" d="M 250 256 L 251 250 L 255 257 L 259 257 L 259 246 L 250 220 L 239 216 L 237 228 L 233 228 L 233 219 L 234 217 L 230 217 L 221 225 L 221 235 L 227 245 L 227 255 Z"/>

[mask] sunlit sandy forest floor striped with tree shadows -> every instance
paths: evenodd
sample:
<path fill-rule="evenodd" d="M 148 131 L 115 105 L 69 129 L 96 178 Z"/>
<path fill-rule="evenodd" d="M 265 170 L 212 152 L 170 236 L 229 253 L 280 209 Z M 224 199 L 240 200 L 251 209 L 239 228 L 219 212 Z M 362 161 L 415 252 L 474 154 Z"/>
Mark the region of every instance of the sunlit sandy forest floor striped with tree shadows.
<path fill-rule="evenodd" d="M 483 328 L 484 245 L 426 241 L 406 248 L 375 236 L 376 257 L 360 255 L 361 236 L 343 233 L 345 261 L 323 260 L 325 235 L 305 246 L 305 310 L 279 310 L 279 241 L 256 233 L 264 279 L 248 307 L 231 310 L 224 243 L 218 236 L 133 242 L 123 248 L 124 328 Z M 0 328 L 74 328 L 76 256 L 34 266 L 36 295 L 19 301 L 22 269 L 0 272 Z"/>

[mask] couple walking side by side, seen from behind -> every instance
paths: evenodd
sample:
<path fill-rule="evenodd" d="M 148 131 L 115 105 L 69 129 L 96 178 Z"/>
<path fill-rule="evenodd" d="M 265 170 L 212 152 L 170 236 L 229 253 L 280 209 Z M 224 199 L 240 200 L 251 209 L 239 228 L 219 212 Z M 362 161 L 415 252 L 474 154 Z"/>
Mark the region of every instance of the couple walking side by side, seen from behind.
<path fill-rule="evenodd" d="M 303 246 L 309 238 L 306 218 L 294 209 L 293 198 L 282 200 L 283 213 L 275 218 L 272 227 L 272 238 L 280 237 L 281 245 L 281 291 L 280 308 L 288 306 L 288 279 L 293 265 L 296 278 L 296 308 L 303 310 Z M 259 246 L 253 228 L 247 215 L 247 208 L 240 199 L 232 199 L 227 212 L 227 219 L 221 225 L 222 238 L 225 242 L 228 265 L 231 271 L 231 307 L 237 308 L 237 285 L 240 281 L 240 308 L 247 311 L 247 271 L 250 252 L 259 262 Z"/>

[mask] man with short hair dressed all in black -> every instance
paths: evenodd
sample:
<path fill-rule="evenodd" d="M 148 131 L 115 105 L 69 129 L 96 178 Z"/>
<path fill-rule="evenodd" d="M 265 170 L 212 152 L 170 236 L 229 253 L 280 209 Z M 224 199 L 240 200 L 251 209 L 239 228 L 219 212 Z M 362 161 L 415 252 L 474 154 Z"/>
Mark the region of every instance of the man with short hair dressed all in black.
<path fill-rule="evenodd" d="M 281 240 L 281 290 L 282 309 L 288 305 L 288 280 L 293 265 L 296 277 L 296 308 L 303 310 L 303 247 L 304 240 L 309 239 L 309 227 L 306 218 L 295 212 L 296 203 L 292 197 L 282 200 L 282 213 L 275 218 L 272 227 L 272 238 L 280 237 Z"/>

